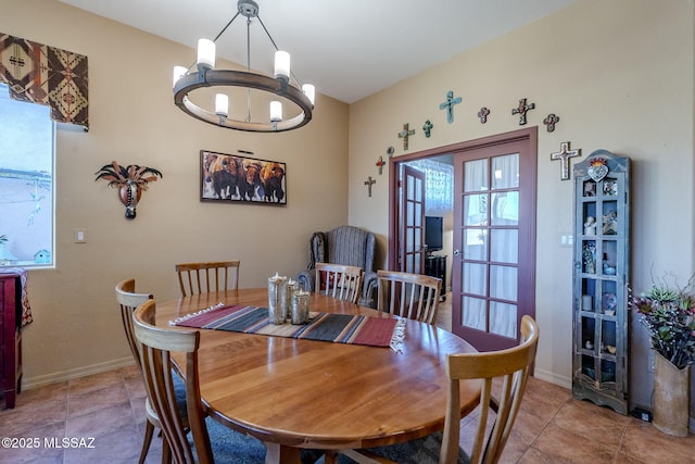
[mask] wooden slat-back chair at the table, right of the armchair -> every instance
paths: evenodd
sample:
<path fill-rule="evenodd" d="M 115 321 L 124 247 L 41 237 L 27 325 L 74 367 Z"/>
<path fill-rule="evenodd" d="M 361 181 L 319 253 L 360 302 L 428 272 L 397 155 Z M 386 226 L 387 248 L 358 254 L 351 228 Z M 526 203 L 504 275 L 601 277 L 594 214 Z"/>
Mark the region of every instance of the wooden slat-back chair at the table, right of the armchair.
<path fill-rule="evenodd" d="M 427 324 L 437 322 L 442 279 L 422 274 L 377 271 L 377 309 Z"/>

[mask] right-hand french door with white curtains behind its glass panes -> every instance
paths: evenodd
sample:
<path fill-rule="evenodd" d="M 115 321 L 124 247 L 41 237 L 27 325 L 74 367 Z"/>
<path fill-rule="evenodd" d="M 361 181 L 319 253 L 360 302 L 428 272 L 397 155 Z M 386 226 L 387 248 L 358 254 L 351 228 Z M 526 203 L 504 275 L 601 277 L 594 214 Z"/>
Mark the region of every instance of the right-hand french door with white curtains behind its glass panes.
<path fill-rule="evenodd" d="M 534 316 L 535 143 L 483 143 L 454 155 L 452 330 L 480 351 L 519 342 Z"/>

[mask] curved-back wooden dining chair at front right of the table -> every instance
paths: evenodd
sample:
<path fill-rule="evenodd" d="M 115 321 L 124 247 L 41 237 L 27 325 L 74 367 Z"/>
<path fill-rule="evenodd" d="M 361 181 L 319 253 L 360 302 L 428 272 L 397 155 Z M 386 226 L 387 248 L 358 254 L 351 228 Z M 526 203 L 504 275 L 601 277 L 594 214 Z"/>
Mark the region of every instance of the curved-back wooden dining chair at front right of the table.
<path fill-rule="evenodd" d="M 525 315 L 521 318 L 521 342 L 501 351 L 450 354 L 446 359 L 448 390 L 444 430 L 405 443 L 366 450 L 343 450 L 361 464 L 372 463 L 497 463 L 519 412 L 529 372 L 535 360 L 539 327 Z M 460 449 L 459 381 L 480 379 L 480 407 L 470 457 Z M 493 381 L 495 393 L 493 396 Z M 497 391 L 497 389 L 500 390 Z M 490 410 L 495 414 L 491 416 Z M 491 425 L 489 423 L 492 423 Z M 486 431 L 486 430 L 490 431 Z M 439 457 L 437 456 L 439 451 Z"/>

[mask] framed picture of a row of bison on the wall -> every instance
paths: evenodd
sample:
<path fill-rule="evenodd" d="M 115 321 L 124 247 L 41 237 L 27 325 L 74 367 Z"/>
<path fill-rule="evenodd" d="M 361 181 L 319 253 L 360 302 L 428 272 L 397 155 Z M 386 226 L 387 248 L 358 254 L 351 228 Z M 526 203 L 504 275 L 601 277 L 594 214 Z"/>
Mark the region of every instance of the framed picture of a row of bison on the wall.
<path fill-rule="evenodd" d="M 287 204 L 287 166 L 239 154 L 200 151 L 200 200 Z"/>

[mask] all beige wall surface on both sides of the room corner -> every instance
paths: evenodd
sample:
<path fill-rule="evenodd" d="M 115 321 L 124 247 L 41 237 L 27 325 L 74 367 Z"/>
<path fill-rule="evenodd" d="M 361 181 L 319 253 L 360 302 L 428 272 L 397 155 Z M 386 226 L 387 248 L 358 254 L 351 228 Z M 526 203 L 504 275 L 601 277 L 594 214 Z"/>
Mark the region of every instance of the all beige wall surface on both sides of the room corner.
<path fill-rule="evenodd" d="M 386 262 L 388 170 L 379 176 L 375 162 L 389 146 L 404 153 L 402 125 L 417 130 L 408 152 L 506 133 L 519 128 L 510 115 L 519 98 L 535 103 L 529 125 L 540 126 L 536 375 L 561 385 L 571 376 L 572 254 L 559 243 L 572 230 L 572 183 L 549 161 L 560 142 L 583 156 L 604 148 L 633 160 L 636 289 L 649 285 L 652 267 L 693 272 L 693 0 L 578 0 L 350 108 L 319 96 L 309 126 L 273 136 L 218 129 L 174 106 L 170 70 L 192 60 L 190 48 L 55 0 L 0 0 L 0 11 L 1 32 L 87 54 L 90 71 L 90 131 L 58 133 L 58 267 L 30 274 L 28 384 L 128 362 L 112 294 L 122 278 L 168 299 L 177 296 L 175 262 L 239 258 L 241 285 L 261 286 L 275 271 L 305 265 L 311 231 L 345 222 L 377 233 Z M 447 90 L 464 99 L 453 124 L 438 108 Z M 484 125 L 476 116 L 483 105 L 492 110 Z M 541 124 L 548 113 L 561 117 L 554 133 Z M 431 138 L 420 130 L 428 118 Z M 200 149 L 287 162 L 289 205 L 200 203 Z M 114 159 L 164 173 L 132 222 L 116 192 L 93 181 Z M 367 176 L 377 179 L 371 198 Z M 73 243 L 75 227 L 87 228 L 86 244 Z M 632 386 L 643 399 L 646 342 L 633 328 L 631 368 L 641 381 Z"/>

